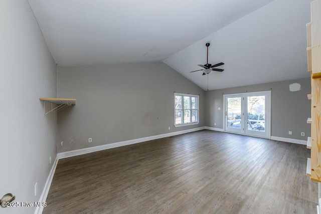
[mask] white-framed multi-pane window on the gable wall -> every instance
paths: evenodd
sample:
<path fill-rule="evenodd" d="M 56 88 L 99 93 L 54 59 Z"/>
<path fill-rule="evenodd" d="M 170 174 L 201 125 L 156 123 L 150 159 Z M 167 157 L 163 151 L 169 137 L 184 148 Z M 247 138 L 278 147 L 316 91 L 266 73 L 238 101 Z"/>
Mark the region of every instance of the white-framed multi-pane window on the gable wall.
<path fill-rule="evenodd" d="M 175 126 L 199 123 L 199 96 L 175 93 Z"/>

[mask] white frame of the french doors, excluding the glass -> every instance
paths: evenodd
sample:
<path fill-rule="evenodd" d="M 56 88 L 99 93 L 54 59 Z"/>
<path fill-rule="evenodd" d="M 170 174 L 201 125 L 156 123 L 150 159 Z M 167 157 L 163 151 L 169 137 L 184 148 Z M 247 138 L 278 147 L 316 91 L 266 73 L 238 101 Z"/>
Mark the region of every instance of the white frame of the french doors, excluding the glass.
<path fill-rule="evenodd" d="M 266 104 L 265 105 L 265 119 L 266 119 L 266 123 L 265 123 L 265 130 L 266 130 L 266 135 L 265 136 L 260 136 L 260 135 L 255 135 L 255 133 L 251 133 L 251 131 L 247 131 L 246 133 L 246 127 L 244 126 L 244 133 L 237 133 L 237 132 L 231 132 L 226 130 L 226 125 L 225 125 L 225 111 L 226 111 L 226 97 L 227 96 L 244 96 L 244 102 L 242 105 L 244 105 L 244 116 L 243 116 L 243 111 L 242 111 L 242 117 L 244 118 L 244 124 L 245 124 L 245 120 L 247 120 L 247 118 L 245 118 L 245 113 L 247 114 L 247 97 L 248 96 L 259 96 L 259 95 L 265 95 L 265 99 L 266 99 Z M 237 93 L 237 94 L 224 94 L 223 95 L 223 131 L 224 132 L 230 132 L 230 133 L 237 133 L 237 134 L 242 134 L 242 135 L 248 135 L 248 136 L 255 136 L 255 137 L 261 137 L 261 138 L 271 138 L 271 91 L 257 91 L 257 92 L 245 92 L 245 93 Z M 242 118 L 242 119 L 243 119 Z"/>

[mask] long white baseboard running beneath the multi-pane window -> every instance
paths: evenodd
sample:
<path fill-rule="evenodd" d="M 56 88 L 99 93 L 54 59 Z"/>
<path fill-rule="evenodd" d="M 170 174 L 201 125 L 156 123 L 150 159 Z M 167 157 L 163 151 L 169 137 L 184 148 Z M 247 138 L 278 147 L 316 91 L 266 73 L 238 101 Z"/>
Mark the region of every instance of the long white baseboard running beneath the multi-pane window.
<path fill-rule="evenodd" d="M 83 148 L 83 149 L 61 152 L 61 153 L 58 153 L 58 159 L 73 157 L 73 156 L 77 156 L 77 155 L 87 154 L 87 153 L 101 151 L 101 150 L 110 149 L 110 148 L 116 148 L 119 146 L 126 146 L 126 145 L 135 144 L 135 143 L 141 143 L 141 142 L 145 142 L 148 140 L 155 140 L 155 139 L 159 139 L 159 138 L 170 137 L 170 136 L 179 135 L 179 134 L 185 134 L 185 133 L 199 131 L 199 130 L 203 130 L 203 129 L 205 129 L 205 127 L 187 129 L 187 130 L 183 130 L 183 131 L 176 131 L 176 132 L 171 132 L 171 133 L 166 133 L 166 134 L 159 134 L 159 135 L 142 137 L 142 138 L 133 139 L 133 140 L 126 140 L 126 141 L 109 143 L 109 144 L 100 145 L 100 146 L 93 146 L 93 147 L 88 147 L 88 148 Z"/>

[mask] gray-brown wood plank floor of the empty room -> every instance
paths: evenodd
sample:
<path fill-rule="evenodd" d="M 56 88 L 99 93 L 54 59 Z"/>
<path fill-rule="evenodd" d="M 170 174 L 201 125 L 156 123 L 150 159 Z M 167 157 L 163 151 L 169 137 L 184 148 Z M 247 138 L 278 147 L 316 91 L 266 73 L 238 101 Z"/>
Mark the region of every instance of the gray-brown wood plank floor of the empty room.
<path fill-rule="evenodd" d="M 309 153 L 203 130 L 62 159 L 43 213 L 316 213 Z"/>

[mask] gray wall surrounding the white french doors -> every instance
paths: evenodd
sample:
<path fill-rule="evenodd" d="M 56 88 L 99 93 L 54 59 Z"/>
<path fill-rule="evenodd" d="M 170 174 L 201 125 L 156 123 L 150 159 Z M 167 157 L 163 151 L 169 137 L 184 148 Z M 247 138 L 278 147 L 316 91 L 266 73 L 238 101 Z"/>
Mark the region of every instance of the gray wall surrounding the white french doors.
<path fill-rule="evenodd" d="M 289 84 L 292 83 L 299 83 L 301 90 L 291 92 Z M 310 78 L 207 91 L 206 126 L 221 129 L 224 127 L 223 95 L 269 90 L 271 90 L 271 136 L 306 140 L 311 132 L 310 124 L 306 123 L 306 119 L 311 115 L 311 102 L 306 97 L 311 93 Z M 219 107 L 221 110 L 218 110 Z M 288 131 L 292 131 L 292 135 L 289 135 Z M 305 137 L 300 135 L 301 132 L 305 132 Z"/>

